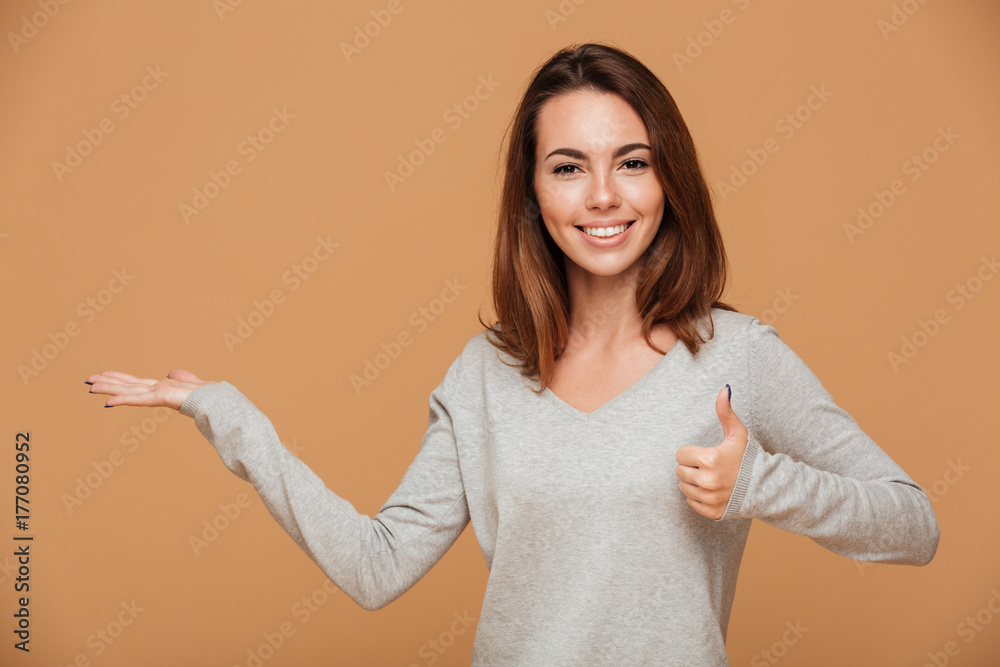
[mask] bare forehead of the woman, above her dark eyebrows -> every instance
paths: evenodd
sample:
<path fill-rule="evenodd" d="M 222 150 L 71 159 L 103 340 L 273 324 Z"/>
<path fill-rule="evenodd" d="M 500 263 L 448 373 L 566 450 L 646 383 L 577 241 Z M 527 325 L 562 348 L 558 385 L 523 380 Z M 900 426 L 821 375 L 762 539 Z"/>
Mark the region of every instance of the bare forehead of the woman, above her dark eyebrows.
<path fill-rule="evenodd" d="M 614 150 L 631 143 L 649 143 L 639 115 L 621 96 L 592 90 L 557 95 L 539 110 L 536 124 L 538 151 L 571 147 Z"/>

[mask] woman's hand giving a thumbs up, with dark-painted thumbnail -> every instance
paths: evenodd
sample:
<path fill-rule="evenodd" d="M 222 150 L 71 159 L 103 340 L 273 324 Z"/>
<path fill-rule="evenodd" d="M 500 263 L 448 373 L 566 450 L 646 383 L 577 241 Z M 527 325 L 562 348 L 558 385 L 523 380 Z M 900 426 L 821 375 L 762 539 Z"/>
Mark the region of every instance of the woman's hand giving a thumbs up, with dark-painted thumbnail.
<path fill-rule="evenodd" d="M 685 445 L 677 450 L 675 472 L 681 480 L 681 493 L 698 514 L 710 519 L 721 519 L 726 512 L 749 437 L 729 402 L 731 395 L 726 385 L 715 398 L 715 414 L 725 434 L 722 443 L 715 447 Z"/>

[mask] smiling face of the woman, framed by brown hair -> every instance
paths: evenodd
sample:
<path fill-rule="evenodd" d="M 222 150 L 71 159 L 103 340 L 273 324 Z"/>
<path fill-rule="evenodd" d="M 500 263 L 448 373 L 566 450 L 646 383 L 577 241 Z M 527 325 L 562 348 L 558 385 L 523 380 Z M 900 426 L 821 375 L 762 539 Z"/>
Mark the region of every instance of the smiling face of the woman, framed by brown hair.
<path fill-rule="evenodd" d="M 649 247 L 665 205 L 642 120 L 618 95 L 579 90 L 542 106 L 536 135 L 535 194 L 567 271 L 621 274 Z"/>

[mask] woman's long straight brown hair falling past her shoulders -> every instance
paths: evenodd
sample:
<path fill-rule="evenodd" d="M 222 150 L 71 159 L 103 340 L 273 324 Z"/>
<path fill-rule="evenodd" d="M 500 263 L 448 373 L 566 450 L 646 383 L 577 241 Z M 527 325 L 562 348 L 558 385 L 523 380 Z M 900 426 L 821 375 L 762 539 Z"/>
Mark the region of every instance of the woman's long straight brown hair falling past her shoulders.
<path fill-rule="evenodd" d="M 509 143 L 493 248 L 492 299 L 497 316 L 487 339 L 518 360 L 525 377 L 548 386 L 569 338 L 569 299 L 562 250 L 542 222 L 533 182 L 536 123 L 549 99 L 577 90 L 621 96 L 649 135 L 652 166 L 663 187 L 663 220 L 643 263 L 635 298 L 643 338 L 654 350 L 655 324 L 668 323 L 695 354 L 705 340 L 697 322 L 719 301 L 728 260 L 694 141 L 663 83 L 632 55 L 604 44 L 572 45 L 541 65 L 507 127 Z M 505 136 L 507 136 L 505 135 Z M 499 326 L 497 326 L 499 325 Z"/>

